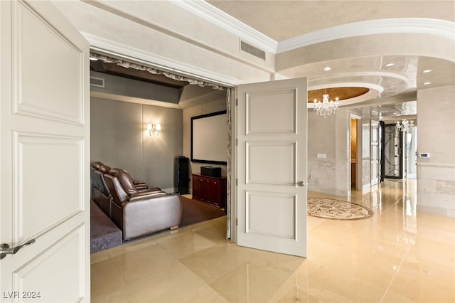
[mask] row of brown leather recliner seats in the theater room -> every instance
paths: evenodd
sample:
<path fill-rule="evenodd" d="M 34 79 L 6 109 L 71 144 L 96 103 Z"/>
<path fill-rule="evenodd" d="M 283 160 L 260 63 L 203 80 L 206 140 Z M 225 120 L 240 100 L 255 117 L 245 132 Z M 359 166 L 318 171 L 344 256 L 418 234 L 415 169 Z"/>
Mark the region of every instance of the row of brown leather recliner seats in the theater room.
<path fill-rule="evenodd" d="M 124 240 L 180 225 L 182 205 L 178 195 L 134 181 L 123 169 L 110 169 L 102 176 L 110 201 L 109 210 L 102 209 L 122 230 Z"/>

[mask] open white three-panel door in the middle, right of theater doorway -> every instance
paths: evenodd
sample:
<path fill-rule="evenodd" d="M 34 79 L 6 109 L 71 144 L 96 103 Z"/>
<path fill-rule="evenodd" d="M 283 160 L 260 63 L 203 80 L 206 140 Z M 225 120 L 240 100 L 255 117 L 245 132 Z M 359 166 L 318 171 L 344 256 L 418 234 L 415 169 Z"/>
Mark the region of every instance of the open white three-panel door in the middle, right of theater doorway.
<path fill-rule="evenodd" d="M 237 89 L 237 243 L 306 257 L 306 78 Z"/>

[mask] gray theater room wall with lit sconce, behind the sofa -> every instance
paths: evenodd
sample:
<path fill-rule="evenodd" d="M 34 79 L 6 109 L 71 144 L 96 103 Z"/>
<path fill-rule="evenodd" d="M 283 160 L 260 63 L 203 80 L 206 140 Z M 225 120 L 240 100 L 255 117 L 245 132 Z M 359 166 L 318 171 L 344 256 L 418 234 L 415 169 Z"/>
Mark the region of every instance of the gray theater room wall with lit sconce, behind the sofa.
<path fill-rule="evenodd" d="M 173 188 L 173 159 L 183 154 L 182 110 L 91 98 L 90 158 L 126 169 L 134 179 Z M 157 137 L 147 123 L 160 123 Z"/>

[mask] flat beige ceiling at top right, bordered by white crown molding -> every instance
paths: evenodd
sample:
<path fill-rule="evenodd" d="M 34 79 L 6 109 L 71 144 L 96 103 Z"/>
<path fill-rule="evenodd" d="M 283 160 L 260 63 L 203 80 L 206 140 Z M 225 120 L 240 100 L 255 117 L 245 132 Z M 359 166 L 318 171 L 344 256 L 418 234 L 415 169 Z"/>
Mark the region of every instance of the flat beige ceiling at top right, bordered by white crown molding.
<path fill-rule="evenodd" d="M 455 21 L 454 1 L 207 1 L 275 41 L 346 23 L 384 18 Z"/>

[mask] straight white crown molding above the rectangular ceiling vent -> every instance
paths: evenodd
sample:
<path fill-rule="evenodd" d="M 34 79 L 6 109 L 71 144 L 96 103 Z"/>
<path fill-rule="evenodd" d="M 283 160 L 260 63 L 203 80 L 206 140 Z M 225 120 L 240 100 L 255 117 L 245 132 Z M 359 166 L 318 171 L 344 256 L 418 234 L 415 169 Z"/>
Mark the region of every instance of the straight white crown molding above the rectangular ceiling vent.
<path fill-rule="evenodd" d="M 215 6 L 205 1 L 185 1 L 185 0 L 168 0 L 172 4 L 185 9 L 210 23 L 220 26 L 220 28 L 240 37 L 245 42 L 251 43 L 257 48 L 261 48 L 269 53 L 277 53 L 277 41 L 269 36 L 255 30 L 236 18 L 226 14 L 224 11 L 217 9 Z"/>

